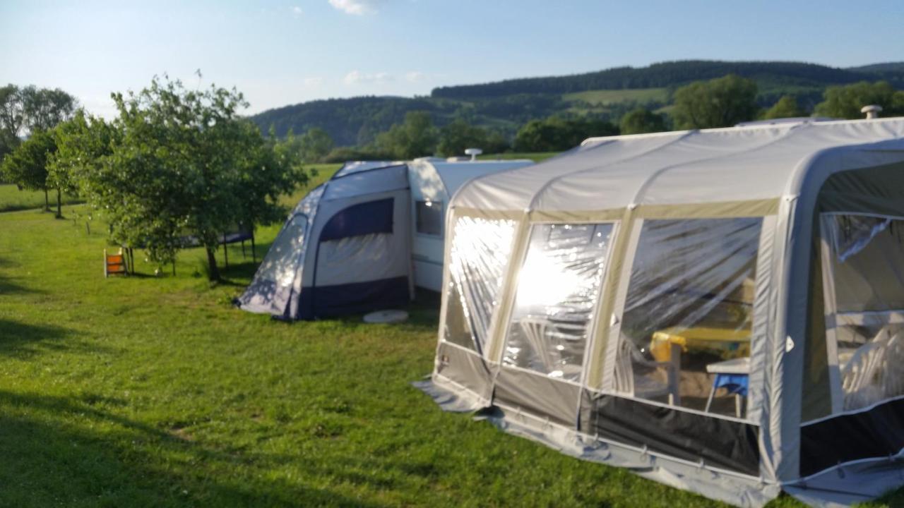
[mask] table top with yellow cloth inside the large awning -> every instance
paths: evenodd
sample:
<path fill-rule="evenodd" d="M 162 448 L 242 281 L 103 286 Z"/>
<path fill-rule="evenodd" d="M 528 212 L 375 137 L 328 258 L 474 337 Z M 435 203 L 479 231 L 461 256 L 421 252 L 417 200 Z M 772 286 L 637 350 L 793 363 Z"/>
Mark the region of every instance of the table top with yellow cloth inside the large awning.
<path fill-rule="evenodd" d="M 675 366 L 680 366 L 681 353 L 688 348 L 743 353 L 745 349 L 750 349 L 750 330 L 672 327 L 655 332 L 650 342 L 650 353 L 653 353 L 656 362 L 673 362 Z"/>

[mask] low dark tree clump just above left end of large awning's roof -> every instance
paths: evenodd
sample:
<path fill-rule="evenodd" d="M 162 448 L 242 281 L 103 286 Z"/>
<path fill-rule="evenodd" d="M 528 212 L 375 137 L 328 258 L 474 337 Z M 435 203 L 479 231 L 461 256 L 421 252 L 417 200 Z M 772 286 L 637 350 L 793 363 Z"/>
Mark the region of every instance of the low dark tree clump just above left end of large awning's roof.
<path fill-rule="evenodd" d="M 531 120 L 518 131 L 514 138 L 517 152 L 560 152 L 593 136 L 613 136 L 618 127 L 604 120 L 550 117 Z"/>

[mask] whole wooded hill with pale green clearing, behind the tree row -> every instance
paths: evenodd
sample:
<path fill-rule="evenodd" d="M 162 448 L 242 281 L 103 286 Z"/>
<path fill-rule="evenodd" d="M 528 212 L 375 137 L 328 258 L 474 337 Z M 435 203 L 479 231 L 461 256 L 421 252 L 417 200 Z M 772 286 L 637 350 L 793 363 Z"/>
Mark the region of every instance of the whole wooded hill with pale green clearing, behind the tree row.
<path fill-rule="evenodd" d="M 569 76 L 519 78 L 475 85 L 439 87 L 428 97 L 355 97 L 304 102 L 251 117 L 278 136 L 321 127 L 338 146 L 361 146 L 399 123 L 405 113 L 429 111 L 442 126 L 454 118 L 502 131 L 508 136 L 532 118 L 594 116 L 617 121 L 631 108 L 667 110 L 673 89 L 693 80 L 735 73 L 757 80 L 763 107 L 794 94 L 805 108 L 822 99 L 825 87 L 860 80 L 888 80 L 904 89 L 904 62 L 847 69 L 794 61 L 666 61 L 647 67 L 618 67 Z"/>

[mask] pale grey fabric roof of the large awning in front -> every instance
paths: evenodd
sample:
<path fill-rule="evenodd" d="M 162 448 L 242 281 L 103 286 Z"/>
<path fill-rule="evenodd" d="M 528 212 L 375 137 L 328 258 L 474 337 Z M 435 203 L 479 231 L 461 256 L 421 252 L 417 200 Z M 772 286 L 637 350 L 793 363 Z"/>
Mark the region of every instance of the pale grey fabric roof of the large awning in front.
<path fill-rule="evenodd" d="M 874 164 L 877 150 L 904 160 L 904 118 L 591 138 L 541 164 L 478 177 L 453 204 L 577 212 L 777 198 L 816 155 L 836 151 L 854 168 Z"/>

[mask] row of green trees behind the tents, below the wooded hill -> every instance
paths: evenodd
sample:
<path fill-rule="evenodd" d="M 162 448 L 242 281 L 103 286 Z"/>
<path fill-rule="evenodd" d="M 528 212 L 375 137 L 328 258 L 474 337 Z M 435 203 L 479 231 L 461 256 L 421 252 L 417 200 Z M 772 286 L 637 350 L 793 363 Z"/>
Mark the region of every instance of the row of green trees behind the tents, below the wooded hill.
<path fill-rule="evenodd" d="M 813 110 L 793 95 L 784 95 L 769 108 L 758 104 L 755 80 L 729 74 L 713 80 L 693 81 L 673 92 L 673 105 L 654 111 L 633 108 L 616 123 L 593 116 L 565 118 L 553 115 L 532 119 L 520 127 L 512 139 L 500 131 L 477 127 L 457 118 L 436 127 L 429 111 L 410 111 L 405 119 L 375 136 L 372 143 L 332 150 L 331 142 L 320 143 L 322 149 L 307 152 L 308 162 L 342 162 L 353 159 L 408 159 L 424 155 L 462 155 L 467 147 L 480 147 L 487 154 L 515 152 L 559 152 L 591 136 L 643 134 L 671 129 L 732 127 L 742 122 L 808 117 L 811 114 L 829 118 L 862 118 L 863 105 L 878 104 L 884 116 L 904 116 L 904 91 L 888 81 L 861 81 L 824 90 L 823 101 Z M 329 140 L 319 128 L 305 137 Z"/>

